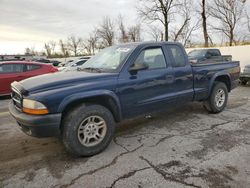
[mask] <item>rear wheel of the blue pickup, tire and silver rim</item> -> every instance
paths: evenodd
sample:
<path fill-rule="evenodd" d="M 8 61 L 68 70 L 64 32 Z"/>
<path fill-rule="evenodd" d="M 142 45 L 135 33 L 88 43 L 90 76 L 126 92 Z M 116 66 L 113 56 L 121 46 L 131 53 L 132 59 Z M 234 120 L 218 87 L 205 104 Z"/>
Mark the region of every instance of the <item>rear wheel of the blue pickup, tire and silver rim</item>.
<path fill-rule="evenodd" d="M 222 82 L 216 82 L 207 101 L 203 103 L 204 108 L 211 113 L 219 113 L 224 110 L 228 100 L 227 86 Z"/>

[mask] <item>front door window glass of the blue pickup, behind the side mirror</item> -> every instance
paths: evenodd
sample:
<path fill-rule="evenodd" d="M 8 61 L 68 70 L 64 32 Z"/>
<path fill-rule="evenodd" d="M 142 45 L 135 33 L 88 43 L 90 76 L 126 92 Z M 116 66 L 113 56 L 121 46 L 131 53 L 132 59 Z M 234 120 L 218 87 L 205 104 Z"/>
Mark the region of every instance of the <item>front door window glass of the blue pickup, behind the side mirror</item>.
<path fill-rule="evenodd" d="M 161 48 L 143 50 L 135 63 L 145 63 L 149 69 L 166 68 L 166 61 Z"/>

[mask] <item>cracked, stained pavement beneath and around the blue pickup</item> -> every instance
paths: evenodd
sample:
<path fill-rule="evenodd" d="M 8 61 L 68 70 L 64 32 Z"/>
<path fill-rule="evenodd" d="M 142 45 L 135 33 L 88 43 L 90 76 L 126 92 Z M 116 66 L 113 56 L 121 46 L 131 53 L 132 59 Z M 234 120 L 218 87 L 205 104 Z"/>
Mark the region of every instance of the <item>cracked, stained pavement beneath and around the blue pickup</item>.
<path fill-rule="evenodd" d="M 75 158 L 26 136 L 0 99 L 0 187 L 250 187 L 250 87 L 208 114 L 200 103 L 123 122 L 101 154 Z"/>

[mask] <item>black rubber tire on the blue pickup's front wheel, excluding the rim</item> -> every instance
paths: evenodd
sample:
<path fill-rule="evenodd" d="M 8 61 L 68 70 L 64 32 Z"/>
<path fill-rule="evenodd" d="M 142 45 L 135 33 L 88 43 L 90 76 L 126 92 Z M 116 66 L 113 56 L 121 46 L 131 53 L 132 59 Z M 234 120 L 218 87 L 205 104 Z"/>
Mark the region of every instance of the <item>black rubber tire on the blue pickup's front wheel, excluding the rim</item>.
<path fill-rule="evenodd" d="M 91 116 L 101 117 L 106 123 L 106 133 L 103 140 L 95 145 L 86 147 L 78 138 L 78 129 L 82 122 Z M 92 156 L 102 152 L 113 139 L 115 132 L 115 121 L 112 113 L 101 105 L 83 104 L 69 112 L 63 121 L 63 144 L 68 152 L 76 156 Z"/>

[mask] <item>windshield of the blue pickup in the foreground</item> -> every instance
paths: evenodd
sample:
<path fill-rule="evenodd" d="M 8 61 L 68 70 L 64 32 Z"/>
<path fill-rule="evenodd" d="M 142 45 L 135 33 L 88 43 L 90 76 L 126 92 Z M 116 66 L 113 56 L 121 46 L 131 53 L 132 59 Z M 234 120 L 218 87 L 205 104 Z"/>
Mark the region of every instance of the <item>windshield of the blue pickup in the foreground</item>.
<path fill-rule="evenodd" d="M 103 49 L 81 66 L 81 70 L 116 71 L 129 53 L 133 45 L 112 46 Z"/>

